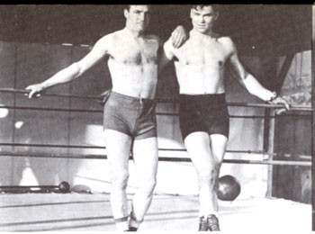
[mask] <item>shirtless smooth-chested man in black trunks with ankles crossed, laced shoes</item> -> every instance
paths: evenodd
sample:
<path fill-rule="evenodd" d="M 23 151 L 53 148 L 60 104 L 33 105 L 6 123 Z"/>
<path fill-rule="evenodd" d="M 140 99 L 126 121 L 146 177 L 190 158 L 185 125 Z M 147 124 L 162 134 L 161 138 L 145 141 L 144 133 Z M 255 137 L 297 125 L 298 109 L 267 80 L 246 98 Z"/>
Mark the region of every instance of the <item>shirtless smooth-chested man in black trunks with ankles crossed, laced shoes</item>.
<path fill-rule="evenodd" d="M 260 85 L 238 60 L 229 37 L 212 31 L 219 13 L 216 5 L 193 5 L 193 30 L 184 45 L 175 49 L 170 40 L 164 46 L 163 65 L 174 59 L 180 86 L 180 127 L 189 156 L 199 179 L 199 230 L 220 230 L 217 184 L 220 166 L 229 138 L 229 112 L 223 83 L 227 62 L 238 74 L 238 81 L 268 103 L 289 104 Z"/>

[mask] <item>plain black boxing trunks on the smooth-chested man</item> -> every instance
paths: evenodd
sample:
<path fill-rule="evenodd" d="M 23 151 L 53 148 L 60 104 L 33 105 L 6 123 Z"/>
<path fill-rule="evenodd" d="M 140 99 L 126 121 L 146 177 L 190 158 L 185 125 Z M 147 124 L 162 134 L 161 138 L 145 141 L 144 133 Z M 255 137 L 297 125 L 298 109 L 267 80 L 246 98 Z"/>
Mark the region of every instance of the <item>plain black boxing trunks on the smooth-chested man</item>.
<path fill-rule="evenodd" d="M 183 139 L 195 131 L 229 138 L 229 111 L 225 94 L 180 95 L 180 128 Z"/>

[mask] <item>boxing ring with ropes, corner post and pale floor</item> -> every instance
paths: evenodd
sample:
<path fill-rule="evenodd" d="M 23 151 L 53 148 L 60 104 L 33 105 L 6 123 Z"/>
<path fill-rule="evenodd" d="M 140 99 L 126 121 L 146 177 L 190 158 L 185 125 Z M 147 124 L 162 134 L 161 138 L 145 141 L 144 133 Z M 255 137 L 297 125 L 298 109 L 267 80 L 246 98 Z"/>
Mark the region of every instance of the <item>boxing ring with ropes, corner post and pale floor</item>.
<path fill-rule="evenodd" d="M 0 93 L 28 94 L 25 90 L 0 88 Z M 43 94 L 58 97 L 82 98 L 100 101 L 101 96 L 80 96 L 73 94 Z M 161 103 L 174 103 L 176 100 L 158 99 Z M 268 108 L 273 113 L 275 104 L 265 103 L 228 103 L 230 106 L 246 106 L 252 108 Z M 28 110 L 40 112 L 94 112 L 103 113 L 101 109 L 63 109 L 46 107 L 28 107 L 16 105 L 1 105 L 2 109 Z M 293 105 L 294 111 L 312 112 L 311 108 Z M 294 114 L 294 113 L 293 113 Z M 157 115 L 176 115 L 176 113 L 157 112 Z M 264 115 L 238 116 L 230 118 L 266 118 Z M 275 114 L 268 116 L 273 123 Z M 228 153 L 263 155 L 258 159 L 224 159 L 223 163 L 250 164 L 270 166 L 311 166 L 311 161 L 275 160 L 273 151 L 274 124 L 270 124 L 269 148 L 262 150 L 228 150 Z M 34 148 L 96 148 L 103 146 L 33 144 L 0 142 L 0 146 L 13 147 L 14 150 L 0 151 L 1 157 L 44 157 L 44 158 L 79 158 L 106 159 L 103 154 L 61 154 L 24 151 L 23 147 Z M 21 149 L 22 148 L 22 149 Z M 163 151 L 185 151 L 185 149 L 158 148 Z M 310 157 L 310 156 L 304 156 Z M 131 156 L 130 156 L 131 158 Z M 188 157 L 159 157 L 159 161 L 191 162 Z M 312 179 L 313 181 L 313 179 Z M 222 231 L 310 231 L 311 204 L 276 199 L 270 196 L 271 181 L 268 181 L 266 198 L 237 199 L 233 202 L 219 201 L 220 226 Z M 0 186 L 1 190 L 1 186 Z M 0 194 L 0 230 L 1 231 L 113 231 L 112 211 L 108 193 L 1 193 Z M 129 193 L 129 204 L 131 194 Z M 145 230 L 192 230 L 197 229 L 198 197 L 196 195 L 174 195 L 155 193 L 152 205 L 139 231 Z"/>

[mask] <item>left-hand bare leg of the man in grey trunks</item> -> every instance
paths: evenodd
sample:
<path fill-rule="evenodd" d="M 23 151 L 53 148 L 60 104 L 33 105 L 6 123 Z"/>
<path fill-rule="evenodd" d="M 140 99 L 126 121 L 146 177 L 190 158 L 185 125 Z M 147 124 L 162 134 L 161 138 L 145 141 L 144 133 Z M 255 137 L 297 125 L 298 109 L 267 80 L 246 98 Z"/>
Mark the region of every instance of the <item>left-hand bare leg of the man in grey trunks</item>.
<path fill-rule="evenodd" d="M 117 130 L 104 130 L 107 158 L 111 169 L 112 215 L 120 231 L 129 229 L 126 188 L 129 177 L 130 136 Z"/>

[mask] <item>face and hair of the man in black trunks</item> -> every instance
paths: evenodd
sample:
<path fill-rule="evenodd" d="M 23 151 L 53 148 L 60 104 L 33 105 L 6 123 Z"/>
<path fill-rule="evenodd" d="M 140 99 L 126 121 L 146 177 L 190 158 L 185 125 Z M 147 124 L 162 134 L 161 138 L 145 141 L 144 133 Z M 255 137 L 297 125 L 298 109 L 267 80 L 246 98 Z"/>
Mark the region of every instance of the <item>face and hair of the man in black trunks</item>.
<path fill-rule="evenodd" d="M 219 14 L 214 12 L 211 5 L 197 6 L 192 8 L 190 17 L 192 18 L 193 29 L 201 33 L 211 31 L 213 23 L 217 20 Z"/>

